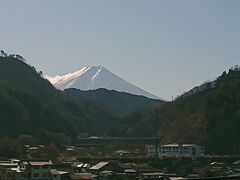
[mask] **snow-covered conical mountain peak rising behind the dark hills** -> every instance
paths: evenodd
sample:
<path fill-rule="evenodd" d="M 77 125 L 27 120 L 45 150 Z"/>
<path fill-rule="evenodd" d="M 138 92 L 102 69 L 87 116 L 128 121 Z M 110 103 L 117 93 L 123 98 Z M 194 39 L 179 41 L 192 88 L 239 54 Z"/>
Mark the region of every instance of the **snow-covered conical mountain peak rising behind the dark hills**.
<path fill-rule="evenodd" d="M 105 88 L 119 92 L 142 95 L 152 99 L 161 99 L 158 96 L 130 84 L 102 66 L 86 66 L 78 71 L 63 76 L 45 76 L 45 78 L 56 88 L 61 90 L 68 88 L 76 88 L 80 90 Z"/>

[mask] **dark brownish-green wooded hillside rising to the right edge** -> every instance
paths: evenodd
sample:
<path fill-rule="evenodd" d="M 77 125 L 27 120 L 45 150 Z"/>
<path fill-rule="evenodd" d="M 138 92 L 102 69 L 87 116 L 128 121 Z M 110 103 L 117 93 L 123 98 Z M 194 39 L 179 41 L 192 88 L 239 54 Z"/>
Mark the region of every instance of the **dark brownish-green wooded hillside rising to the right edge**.
<path fill-rule="evenodd" d="M 240 153 L 240 69 L 224 72 L 214 88 L 180 97 L 158 109 L 162 143 L 197 143 L 207 152 Z M 109 135 L 150 137 L 155 131 L 155 111 L 129 115 Z"/>

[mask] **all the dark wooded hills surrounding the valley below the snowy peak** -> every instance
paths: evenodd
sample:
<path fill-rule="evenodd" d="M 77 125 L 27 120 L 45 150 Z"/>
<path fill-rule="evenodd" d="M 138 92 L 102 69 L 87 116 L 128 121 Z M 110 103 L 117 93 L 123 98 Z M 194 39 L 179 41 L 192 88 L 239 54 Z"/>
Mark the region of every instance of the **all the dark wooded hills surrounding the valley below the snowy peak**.
<path fill-rule="evenodd" d="M 62 92 L 21 59 L 0 57 L 0 156 L 14 154 L 26 137 L 60 147 L 79 136 L 153 137 L 156 108 L 161 143 L 196 143 L 209 153 L 239 154 L 239 68 L 214 84 L 173 102 L 105 89 Z"/>

